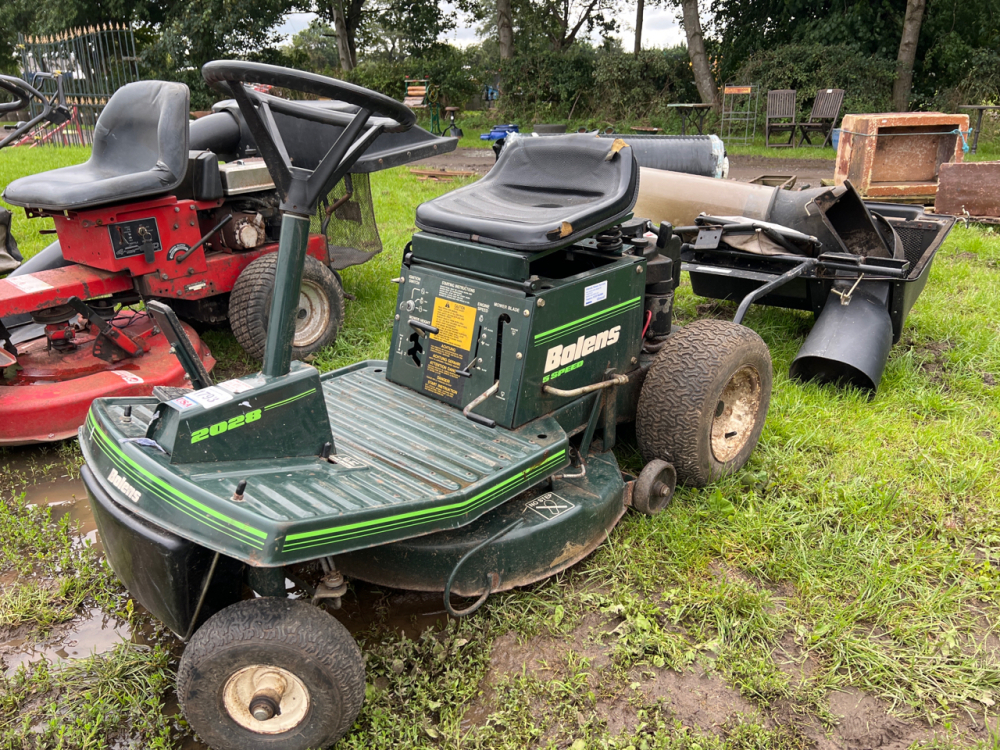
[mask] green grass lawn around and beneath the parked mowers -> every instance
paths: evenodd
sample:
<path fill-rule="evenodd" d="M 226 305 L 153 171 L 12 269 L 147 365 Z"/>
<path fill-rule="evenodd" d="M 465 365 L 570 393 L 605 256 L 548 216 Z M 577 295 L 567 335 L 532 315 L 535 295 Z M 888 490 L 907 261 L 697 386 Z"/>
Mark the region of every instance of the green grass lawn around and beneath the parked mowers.
<path fill-rule="evenodd" d="M 84 156 L 0 152 L 0 185 Z M 356 300 L 317 366 L 384 356 L 413 210 L 460 184 L 372 176 L 386 249 L 343 274 Z M 27 255 L 51 239 L 39 226 L 16 220 Z M 871 401 L 790 381 L 811 316 L 752 309 L 775 383 L 746 469 L 680 489 L 655 518 L 626 515 L 580 565 L 461 621 L 421 632 L 404 597 L 367 591 L 366 702 L 338 747 L 997 747 L 998 309 L 1000 235 L 960 225 Z M 681 320 L 718 310 L 685 277 Z M 249 366 L 229 334 L 206 338 L 221 367 Z M 636 466 L 633 447 L 619 455 Z M 44 645 L 93 610 L 144 635 L 0 676 L 0 746 L 179 748 L 182 646 L 68 515 L 25 507 L 25 490 L 79 463 L 72 443 L 0 451 L 0 642 Z"/>

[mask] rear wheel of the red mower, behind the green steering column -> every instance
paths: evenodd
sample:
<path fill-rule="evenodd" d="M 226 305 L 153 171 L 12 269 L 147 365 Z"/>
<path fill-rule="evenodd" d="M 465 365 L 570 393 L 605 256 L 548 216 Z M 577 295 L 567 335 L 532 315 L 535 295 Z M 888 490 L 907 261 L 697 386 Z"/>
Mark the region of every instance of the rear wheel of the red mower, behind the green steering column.
<path fill-rule="evenodd" d="M 268 253 L 243 269 L 229 298 L 233 335 L 247 354 L 264 358 L 278 254 Z M 344 322 L 344 291 L 336 274 L 306 256 L 295 317 L 292 357 L 305 359 L 337 340 Z"/>

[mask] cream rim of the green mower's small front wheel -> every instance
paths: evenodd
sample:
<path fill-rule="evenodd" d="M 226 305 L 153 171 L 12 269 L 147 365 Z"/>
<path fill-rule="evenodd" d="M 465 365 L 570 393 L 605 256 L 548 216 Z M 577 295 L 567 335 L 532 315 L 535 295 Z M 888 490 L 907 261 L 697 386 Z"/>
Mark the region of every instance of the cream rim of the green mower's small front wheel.
<path fill-rule="evenodd" d="M 251 713 L 251 704 L 271 702 L 280 710 L 261 721 Z M 222 688 L 222 702 L 230 718 L 258 734 L 280 734 L 301 724 L 309 713 L 309 691 L 305 684 L 281 667 L 254 664 L 233 674 Z"/>

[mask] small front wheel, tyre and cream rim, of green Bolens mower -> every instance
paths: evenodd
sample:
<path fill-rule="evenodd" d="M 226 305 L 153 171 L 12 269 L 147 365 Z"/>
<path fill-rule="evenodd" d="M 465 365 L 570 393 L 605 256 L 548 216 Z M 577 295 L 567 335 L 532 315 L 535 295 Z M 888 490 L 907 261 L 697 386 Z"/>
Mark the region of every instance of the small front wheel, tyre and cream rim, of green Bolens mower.
<path fill-rule="evenodd" d="M 329 747 L 351 728 L 364 694 L 350 633 L 293 599 L 250 599 L 217 613 L 177 671 L 184 716 L 214 750 Z"/>

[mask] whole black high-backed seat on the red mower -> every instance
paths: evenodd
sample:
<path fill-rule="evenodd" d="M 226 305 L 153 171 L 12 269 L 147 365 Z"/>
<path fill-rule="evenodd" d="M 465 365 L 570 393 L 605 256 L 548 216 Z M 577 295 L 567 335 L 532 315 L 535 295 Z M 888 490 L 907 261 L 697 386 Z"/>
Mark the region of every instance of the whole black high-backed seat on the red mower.
<path fill-rule="evenodd" d="M 188 88 L 139 81 L 114 93 L 83 164 L 22 177 L 3 197 L 15 206 L 64 211 L 167 193 L 188 162 Z"/>

